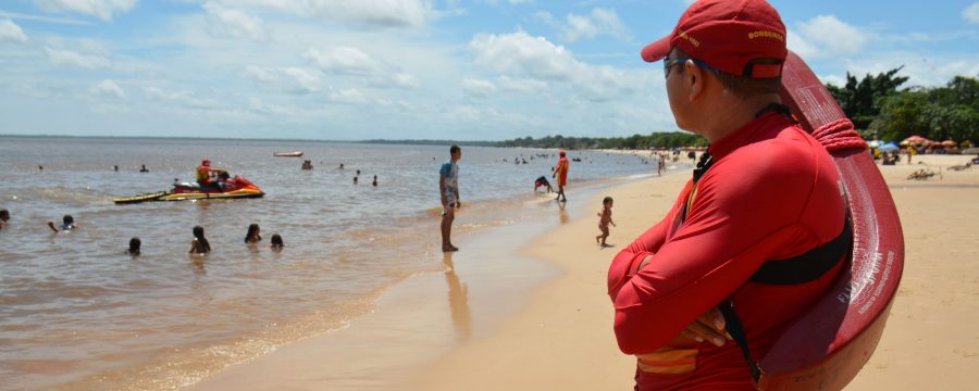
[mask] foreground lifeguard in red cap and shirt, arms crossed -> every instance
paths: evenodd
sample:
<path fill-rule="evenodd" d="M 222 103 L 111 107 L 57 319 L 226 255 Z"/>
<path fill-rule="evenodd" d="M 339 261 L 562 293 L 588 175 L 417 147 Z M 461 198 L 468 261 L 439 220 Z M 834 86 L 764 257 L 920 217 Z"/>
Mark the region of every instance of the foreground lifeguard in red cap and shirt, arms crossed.
<path fill-rule="evenodd" d="M 843 190 L 781 104 L 786 54 L 764 0 L 697 1 L 642 51 L 664 61 L 677 125 L 710 147 L 662 220 L 609 266 L 636 390 L 753 390 L 757 361 L 840 274 L 852 242 Z"/>

